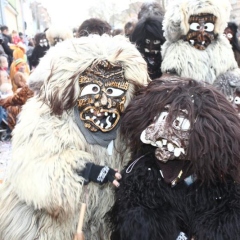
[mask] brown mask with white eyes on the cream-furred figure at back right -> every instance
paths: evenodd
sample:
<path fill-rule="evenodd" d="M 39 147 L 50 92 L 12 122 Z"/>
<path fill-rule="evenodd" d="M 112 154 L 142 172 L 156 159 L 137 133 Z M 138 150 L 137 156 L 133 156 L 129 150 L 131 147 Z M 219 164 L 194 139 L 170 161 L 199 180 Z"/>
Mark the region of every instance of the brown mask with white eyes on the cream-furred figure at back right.
<path fill-rule="evenodd" d="M 188 21 L 190 29 L 185 40 L 196 49 L 205 50 L 216 38 L 214 34 L 215 22 L 216 16 L 213 14 L 191 15 Z"/>

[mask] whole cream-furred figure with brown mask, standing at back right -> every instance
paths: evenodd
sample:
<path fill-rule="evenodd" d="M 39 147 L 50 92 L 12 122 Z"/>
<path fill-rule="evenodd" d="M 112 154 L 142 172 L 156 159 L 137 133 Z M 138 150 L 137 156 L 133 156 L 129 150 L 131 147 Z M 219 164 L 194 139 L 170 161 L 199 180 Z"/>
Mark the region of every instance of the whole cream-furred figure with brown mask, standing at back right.
<path fill-rule="evenodd" d="M 179 0 L 169 5 L 163 22 L 162 72 L 213 83 L 237 69 L 231 45 L 223 36 L 230 9 L 228 0 Z"/>

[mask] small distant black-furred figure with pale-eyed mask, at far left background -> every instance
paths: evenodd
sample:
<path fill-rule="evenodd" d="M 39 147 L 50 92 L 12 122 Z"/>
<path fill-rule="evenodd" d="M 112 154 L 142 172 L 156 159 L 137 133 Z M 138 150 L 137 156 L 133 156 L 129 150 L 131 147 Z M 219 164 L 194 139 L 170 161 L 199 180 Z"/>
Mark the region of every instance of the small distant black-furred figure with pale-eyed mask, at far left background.
<path fill-rule="evenodd" d="M 36 68 L 40 59 L 46 54 L 49 49 L 48 40 L 45 33 L 37 33 L 34 37 L 35 47 L 32 55 L 29 57 L 30 65 Z"/>

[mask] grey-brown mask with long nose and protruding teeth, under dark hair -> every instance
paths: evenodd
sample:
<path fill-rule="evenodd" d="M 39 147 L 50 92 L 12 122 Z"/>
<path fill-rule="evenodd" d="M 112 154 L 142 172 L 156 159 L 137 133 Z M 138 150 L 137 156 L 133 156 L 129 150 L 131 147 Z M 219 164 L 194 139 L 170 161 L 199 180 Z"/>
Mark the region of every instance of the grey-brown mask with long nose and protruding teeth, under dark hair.
<path fill-rule="evenodd" d="M 141 141 L 156 147 L 155 156 L 158 160 L 167 162 L 173 159 L 185 159 L 190 133 L 190 121 L 187 110 L 181 110 L 172 125 L 167 123 L 169 106 L 155 117 L 154 122 L 141 134 Z"/>

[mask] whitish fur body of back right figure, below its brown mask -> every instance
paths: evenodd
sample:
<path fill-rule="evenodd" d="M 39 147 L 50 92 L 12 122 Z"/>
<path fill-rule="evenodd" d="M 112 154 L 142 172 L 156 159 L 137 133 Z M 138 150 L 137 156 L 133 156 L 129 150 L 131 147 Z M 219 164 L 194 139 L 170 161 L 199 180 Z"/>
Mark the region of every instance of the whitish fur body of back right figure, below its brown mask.
<path fill-rule="evenodd" d="M 213 83 L 226 72 L 237 70 L 229 41 L 219 35 L 205 50 L 194 48 L 189 42 L 166 41 L 162 46 L 162 72 L 174 72 L 181 77 Z M 238 73 L 240 76 L 240 72 Z"/>

